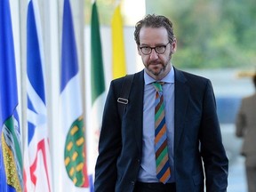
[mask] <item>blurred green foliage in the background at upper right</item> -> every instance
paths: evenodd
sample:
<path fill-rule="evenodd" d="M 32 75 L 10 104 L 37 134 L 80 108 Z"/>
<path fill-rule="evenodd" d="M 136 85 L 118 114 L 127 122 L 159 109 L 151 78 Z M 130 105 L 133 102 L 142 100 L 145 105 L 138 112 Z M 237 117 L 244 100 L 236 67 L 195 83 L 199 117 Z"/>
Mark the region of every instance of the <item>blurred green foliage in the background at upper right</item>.
<path fill-rule="evenodd" d="M 174 25 L 184 68 L 254 68 L 255 0 L 146 1 L 147 13 L 164 14 Z"/>

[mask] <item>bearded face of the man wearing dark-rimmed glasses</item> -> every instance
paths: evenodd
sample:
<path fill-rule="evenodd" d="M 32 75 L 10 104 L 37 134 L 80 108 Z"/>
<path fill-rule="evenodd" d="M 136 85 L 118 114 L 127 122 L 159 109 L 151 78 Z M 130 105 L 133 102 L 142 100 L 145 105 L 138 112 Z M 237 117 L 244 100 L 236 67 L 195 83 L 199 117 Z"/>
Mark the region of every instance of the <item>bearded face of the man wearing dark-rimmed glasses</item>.
<path fill-rule="evenodd" d="M 149 76 L 156 80 L 164 78 L 171 70 L 172 53 L 176 51 L 176 40 L 170 42 L 168 40 L 167 30 L 165 28 L 141 28 L 140 29 L 140 45 L 138 52 L 141 56 L 145 70 Z M 156 47 L 166 45 L 164 53 L 159 54 L 155 49 L 148 55 L 141 52 L 141 47 Z"/>

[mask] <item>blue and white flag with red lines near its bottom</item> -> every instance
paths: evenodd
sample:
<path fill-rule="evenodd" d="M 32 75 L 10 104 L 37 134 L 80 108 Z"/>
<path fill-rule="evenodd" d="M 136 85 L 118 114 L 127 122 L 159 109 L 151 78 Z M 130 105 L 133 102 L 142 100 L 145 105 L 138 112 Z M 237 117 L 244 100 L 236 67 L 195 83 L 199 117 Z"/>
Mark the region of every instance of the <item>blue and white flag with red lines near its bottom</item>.
<path fill-rule="evenodd" d="M 44 92 L 44 49 L 36 0 L 28 1 L 27 96 L 28 126 L 24 149 L 24 191 L 51 192 L 52 171 Z"/>

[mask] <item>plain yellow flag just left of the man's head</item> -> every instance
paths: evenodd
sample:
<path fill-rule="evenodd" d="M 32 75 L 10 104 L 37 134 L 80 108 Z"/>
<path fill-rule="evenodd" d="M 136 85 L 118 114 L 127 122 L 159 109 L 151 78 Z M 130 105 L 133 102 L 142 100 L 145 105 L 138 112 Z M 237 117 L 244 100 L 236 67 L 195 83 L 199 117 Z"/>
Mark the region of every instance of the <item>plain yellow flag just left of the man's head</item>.
<path fill-rule="evenodd" d="M 126 75 L 125 54 L 124 54 L 124 32 L 123 20 L 120 11 L 120 4 L 117 4 L 112 22 L 112 64 L 113 78 Z"/>

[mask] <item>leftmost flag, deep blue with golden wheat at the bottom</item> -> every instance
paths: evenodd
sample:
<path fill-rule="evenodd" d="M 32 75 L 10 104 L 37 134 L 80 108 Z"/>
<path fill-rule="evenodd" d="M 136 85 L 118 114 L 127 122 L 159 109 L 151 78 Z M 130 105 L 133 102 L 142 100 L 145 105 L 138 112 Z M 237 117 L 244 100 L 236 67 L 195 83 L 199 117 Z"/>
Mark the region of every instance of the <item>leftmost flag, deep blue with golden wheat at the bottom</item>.
<path fill-rule="evenodd" d="M 9 0 L 0 1 L 0 191 L 22 191 L 18 92 Z"/>

